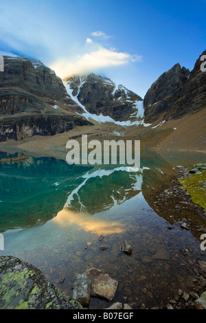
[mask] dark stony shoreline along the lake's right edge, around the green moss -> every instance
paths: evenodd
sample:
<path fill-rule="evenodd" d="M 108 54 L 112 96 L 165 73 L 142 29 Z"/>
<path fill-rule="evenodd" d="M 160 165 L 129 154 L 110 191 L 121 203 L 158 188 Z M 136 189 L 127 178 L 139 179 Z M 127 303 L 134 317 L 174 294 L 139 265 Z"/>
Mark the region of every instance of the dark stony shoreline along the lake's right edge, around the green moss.
<path fill-rule="evenodd" d="M 170 213 L 172 215 L 168 216 L 168 222 L 171 226 L 168 226 L 168 230 L 172 230 L 172 225 L 180 225 L 183 230 L 190 230 L 194 236 L 198 238 L 206 233 L 205 227 L 201 225 L 198 221 L 205 221 L 206 219 L 206 210 L 192 201 L 192 197 L 190 192 L 183 187 L 183 179 L 188 179 L 192 175 L 199 174 L 200 171 L 203 170 L 205 172 L 206 164 L 196 164 L 189 168 L 184 166 L 177 166 L 177 176 L 172 180 L 172 185 L 159 192 L 159 194 L 155 195 L 153 201 L 150 203 L 150 206 L 159 214 L 161 210 L 163 210 L 165 204 L 172 205 L 174 213 Z M 201 181 L 202 182 L 202 181 Z M 203 181 L 204 182 L 204 181 Z M 202 183 L 201 183 L 202 185 Z M 176 204 L 174 204 L 174 199 Z M 178 202 L 177 202 L 178 201 Z M 175 214 L 181 213 L 183 209 L 188 209 L 190 212 L 194 212 L 196 215 L 197 221 L 192 221 L 191 219 L 182 219 L 181 221 L 178 219 L 176 221 Z M 200 241 L 201 243 L 201 241 Z M 201 249 L 200 249 L 201 250 Z M 183 256 L 187 255 L 188 250 L 182 250 Z M 206 250 L 200 251 L 203 256 L 206 256 Z M 205 259 L 206 260 L 206 259 Z M 206 309 L 206 261 L 198 261 L 194 260 L 194 262 L 190 261 L 190 266 L 194 271 L 194 279 L 191 287 L 191 291 L 185 293 L 179 289 L 179 292 L 172 300 L 168 302 L 166 305 L 166 309 Z M 203 302 L 199 302 L 199 298 Z M 163 309 L 163 308 L 155 308 L 155 309 Z"/>

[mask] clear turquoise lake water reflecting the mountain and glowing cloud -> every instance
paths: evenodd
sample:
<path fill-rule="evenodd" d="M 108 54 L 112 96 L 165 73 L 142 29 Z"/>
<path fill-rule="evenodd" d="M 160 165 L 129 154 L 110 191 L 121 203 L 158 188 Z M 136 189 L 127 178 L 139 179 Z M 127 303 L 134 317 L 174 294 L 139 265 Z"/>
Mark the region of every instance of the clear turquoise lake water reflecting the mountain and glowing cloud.
<path fill-rule="evenodd" d="M 190 212 L 170 219 L 166 205 L 159 214 L 150 208 L 150 197 L 170 185 L 174 166 L 204 159 L 204 155 L 144 153 L 138 172 L 69 166 L 52 157 L 0 163 L 0 232 L 5 242 L 0 255 L 38 266 L 69 296 L 76 274 L 97 267 L 119 281 L 115 301 L 127 296 L 128 302 L 163 306 L 179 288 L 190 291 L 194 278 L 190 261 L 204 254 L 201 234 L 179 225 Z M 104 242 L 99 241 L 101 234 Z M 119 252 L 123 240 L 132 245 L 132 256 Z M 98 249 L 102 245 L 108 247 L 104 252 Z M 181 251 L 188 246 L 192 252 L 185 257 Z M 61 278 L 65 278 L 62 285 Z M 91 300 L 91 309 L 104 307 L 107 302 Z"/>

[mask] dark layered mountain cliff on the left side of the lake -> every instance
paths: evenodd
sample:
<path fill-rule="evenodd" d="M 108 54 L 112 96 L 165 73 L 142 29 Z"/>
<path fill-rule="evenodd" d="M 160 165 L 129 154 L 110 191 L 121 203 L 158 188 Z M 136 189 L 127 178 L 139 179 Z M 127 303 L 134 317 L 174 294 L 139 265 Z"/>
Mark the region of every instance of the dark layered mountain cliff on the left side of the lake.
<path fill-rule="evenodd" d="M 55 135 L 90 124 L 54 71 L 41 62 L 4 56 L 0 73 L 0 142 L 32 135 Z"/>

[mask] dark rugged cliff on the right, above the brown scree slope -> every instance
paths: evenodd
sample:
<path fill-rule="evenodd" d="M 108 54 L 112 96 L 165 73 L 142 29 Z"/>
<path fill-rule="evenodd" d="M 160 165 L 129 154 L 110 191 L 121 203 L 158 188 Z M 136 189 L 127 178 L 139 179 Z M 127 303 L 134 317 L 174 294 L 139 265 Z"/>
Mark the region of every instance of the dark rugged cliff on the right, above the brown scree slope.
<path fill-rule="evenodd" d="M 166 121 L 181 118 L 206 107 L 206 73 L 201 63 L 198 58 L 191 72 L 176 64 L 152 84 L 144 98 L 145 122 L 155 122 L 160 116 Z"/>

